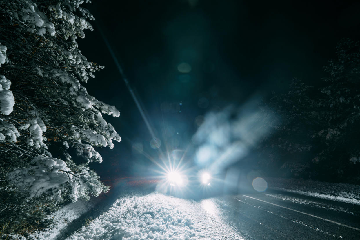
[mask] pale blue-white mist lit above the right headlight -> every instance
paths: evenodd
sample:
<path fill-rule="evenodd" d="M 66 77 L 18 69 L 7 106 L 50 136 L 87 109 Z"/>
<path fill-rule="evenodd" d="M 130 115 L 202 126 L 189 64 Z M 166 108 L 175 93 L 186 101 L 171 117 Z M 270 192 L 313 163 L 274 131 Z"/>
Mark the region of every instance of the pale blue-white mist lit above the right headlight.
<path fill-rule="evenodd" d="M 274 116 L 259 109 L 260 98 L 252 98 L 241 107 L 230 105 L 219 112 L 209 112 L 194 135 L 197 144 L 195 162 L 220 172 L 245 158 L 270 128 L 264 119 Z"/>

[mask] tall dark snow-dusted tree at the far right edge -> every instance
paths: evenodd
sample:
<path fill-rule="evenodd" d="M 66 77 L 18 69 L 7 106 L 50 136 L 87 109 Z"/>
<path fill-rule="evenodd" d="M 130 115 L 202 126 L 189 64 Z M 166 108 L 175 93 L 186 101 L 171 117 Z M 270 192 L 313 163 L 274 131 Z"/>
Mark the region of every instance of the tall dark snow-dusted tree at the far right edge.
<path fill-rule="evenodd" d="M 327 166 L 328 176 L 359 181 L 360 42 L 342 39 L 336 54 L 325 67 L 329 76 L 316 100 L 321 126 L 313 137 L 322 143 L 322 149 L 313 161 Z"/>

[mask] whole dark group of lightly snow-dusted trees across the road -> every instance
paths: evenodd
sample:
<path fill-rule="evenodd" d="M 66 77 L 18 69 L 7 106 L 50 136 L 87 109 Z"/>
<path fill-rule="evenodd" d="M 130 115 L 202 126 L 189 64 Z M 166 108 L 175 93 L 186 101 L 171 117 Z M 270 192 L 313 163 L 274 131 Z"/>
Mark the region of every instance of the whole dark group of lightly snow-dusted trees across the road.
<path fill-rule="evenodd" d="M 279 163 L 285 176 L 360 180 L 360 42 L 343 39 L 336 54 L 324 87 L 293 80 L 287 93 L 264 104 L 278 119 L 263 120 L 274 131 L 262 142 L 261 163 Z"/>

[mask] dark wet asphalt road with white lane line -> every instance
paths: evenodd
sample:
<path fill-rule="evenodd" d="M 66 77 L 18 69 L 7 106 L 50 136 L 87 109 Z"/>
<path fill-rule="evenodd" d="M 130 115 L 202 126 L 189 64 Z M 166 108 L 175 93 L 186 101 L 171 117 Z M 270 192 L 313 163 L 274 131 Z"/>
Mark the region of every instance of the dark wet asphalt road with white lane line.
<path fill-rule="evenodd" d="M 207 201 L 244 239 L 360 239 L 359 205 L 281 191 Z"/>

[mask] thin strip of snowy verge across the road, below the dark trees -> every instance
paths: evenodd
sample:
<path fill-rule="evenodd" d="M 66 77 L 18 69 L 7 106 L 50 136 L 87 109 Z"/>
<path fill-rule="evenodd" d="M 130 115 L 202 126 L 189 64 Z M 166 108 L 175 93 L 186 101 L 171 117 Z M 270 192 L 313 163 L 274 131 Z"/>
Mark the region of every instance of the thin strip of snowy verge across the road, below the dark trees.
<path fill-rule="evenodd" d="M 360 204 L 360 185 L 319 182 L 294 178 L 265 178 L 269 189 L 317 198 Z"/>

